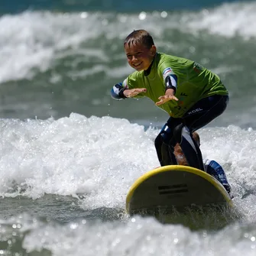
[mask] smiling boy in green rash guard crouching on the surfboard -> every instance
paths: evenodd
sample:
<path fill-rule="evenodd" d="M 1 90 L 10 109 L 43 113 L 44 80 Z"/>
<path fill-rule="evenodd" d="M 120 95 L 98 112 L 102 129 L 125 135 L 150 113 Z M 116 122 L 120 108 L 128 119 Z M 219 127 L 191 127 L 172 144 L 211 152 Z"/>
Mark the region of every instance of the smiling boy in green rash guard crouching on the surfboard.
<path fill-rule="evenodd" d="M 191 167 L 203 170 L 192 133 L 224 112 L 228 91 L 219 76 L 191 60 L 157 53 L 151 34 L 133 31 L 125 39 L 128 63 L 136 72 L 113 86 L 114 99 L 147 96 L 170 115 L 154 141 L 161 166 L 177 164 L 178 143 Z"/>

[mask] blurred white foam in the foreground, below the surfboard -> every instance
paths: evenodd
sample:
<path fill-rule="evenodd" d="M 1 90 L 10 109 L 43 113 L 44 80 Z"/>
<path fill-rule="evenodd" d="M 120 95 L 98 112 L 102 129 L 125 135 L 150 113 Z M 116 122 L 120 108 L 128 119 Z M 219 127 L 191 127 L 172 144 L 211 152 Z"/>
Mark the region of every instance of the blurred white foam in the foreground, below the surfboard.
<path fill-rule="evenodd" d="M 90 225 L 86 219 L 67 225 L 50 225 L 37 219 L 31 223 L 21 216 L 18 223 L 21 228 L 16 228 L 15 234 L 27 231 L 22 246 L 28 253 L 47 249 L 56 256 L 253 256 L 256 250 L 255 225 L 237 224 L 218 232 L 192 232 L 183 225 L 161 225 L 153 218 L 138 216 L 126 223 L 99 222 L 95 225 Z"/>

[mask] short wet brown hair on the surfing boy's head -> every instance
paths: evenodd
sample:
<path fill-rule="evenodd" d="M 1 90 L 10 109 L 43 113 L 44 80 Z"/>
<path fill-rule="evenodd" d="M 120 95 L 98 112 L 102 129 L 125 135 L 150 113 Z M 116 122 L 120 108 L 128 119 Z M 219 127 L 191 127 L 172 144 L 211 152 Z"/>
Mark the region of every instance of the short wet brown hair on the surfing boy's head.
<path fill-rule="evenodd" d="M 147 49 L 150 49 L 152 45 L 154 45 L 153 37 L 151 37 L 151 34 L 149 34 L 147 31 L 144 31 L 143 29 L 132 31 L 131 34 L 129 34 L 125 38 L 124 47 L 125 44 L 128 44 L 128 47 L 130 45 L 138 45 L 142 44 Z"/>

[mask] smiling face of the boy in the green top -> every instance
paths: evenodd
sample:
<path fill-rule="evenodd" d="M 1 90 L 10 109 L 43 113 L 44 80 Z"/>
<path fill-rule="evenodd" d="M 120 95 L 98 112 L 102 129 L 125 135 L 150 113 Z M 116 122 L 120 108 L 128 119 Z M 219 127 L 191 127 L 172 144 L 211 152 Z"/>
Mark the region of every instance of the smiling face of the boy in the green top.
<path fill-rule="evenodd" d="M 142 44 L 125 44 L 128 63 L 137 71 L 147 70 L 151 66 L 156 50 L 154 45 L 148 49 Z"/>

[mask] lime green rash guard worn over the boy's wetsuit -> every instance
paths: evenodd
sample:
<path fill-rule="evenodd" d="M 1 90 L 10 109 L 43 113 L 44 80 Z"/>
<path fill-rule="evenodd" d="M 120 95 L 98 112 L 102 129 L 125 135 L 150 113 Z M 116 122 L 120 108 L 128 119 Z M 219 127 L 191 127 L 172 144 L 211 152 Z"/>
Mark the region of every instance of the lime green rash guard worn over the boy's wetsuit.
<path fill-rule="evenodd" d="M 168 75 L 177 76 L 175 96 L 179 101 L 170 100 L 158 107 L 173 118 L 182 118 L 200 99 L 213 95 L 228 95 L 219 76 L 192 60 L 164 53 L 156 53 L 151 72 L 147 76 L 144 70 L 136 71 L 128 76 L 122 85 L 127 89 L 146 88 L 147 92 L 140 93 L 134 98 L 146 96 L 153 102 L 158 102 L 158 98 L 165 94 L 165 78 Z"/>

